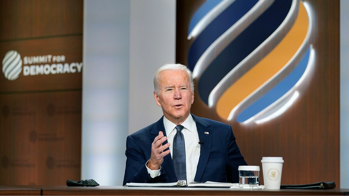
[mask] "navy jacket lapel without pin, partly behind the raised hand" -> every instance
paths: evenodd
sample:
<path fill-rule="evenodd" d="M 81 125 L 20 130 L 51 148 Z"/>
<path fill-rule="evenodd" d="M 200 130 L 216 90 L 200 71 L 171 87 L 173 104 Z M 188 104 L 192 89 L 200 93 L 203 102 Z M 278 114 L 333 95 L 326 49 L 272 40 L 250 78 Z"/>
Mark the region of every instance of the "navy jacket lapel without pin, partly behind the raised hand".
<path fill-rule="evenodd" d="M 155 135 L 155 137 L 159 134 L 159 131 L 162 131 L 164 133 L 164 136 L 166 136 L 163 118 L 164 116 L 162 116 L 162 118 L 155 123 L 153 130 L 151 130 L 151 134 Z M 167 144 L 167 143 L 168 141 L 166 140 L 163 144 Z M 169 149 L 170 148 L 167 148 L 166 150 L 169 150 Z M 161 164 L 161 168 L 162 168 L 162 171 L 164 171 L 168 175 L 168 178 L 172 182 L 177 181 L 177 176 L 176 176 L 176 173 L 174 172 L 171 154 L 168 154 L 164 157 L 164 162 Z"/>

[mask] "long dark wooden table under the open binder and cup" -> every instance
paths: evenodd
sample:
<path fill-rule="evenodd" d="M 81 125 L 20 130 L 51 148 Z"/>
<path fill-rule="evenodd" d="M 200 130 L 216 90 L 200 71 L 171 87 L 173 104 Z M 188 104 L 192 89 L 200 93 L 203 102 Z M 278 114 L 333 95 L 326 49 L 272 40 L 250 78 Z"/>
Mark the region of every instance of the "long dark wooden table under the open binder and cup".
<path fill-rule="evenodd" d="M 41 188 L 42 195 L 349 195 L 349 189 L 296 190 L 296 189 L 229 189 L 194 187 L 68 187 L 68 186 L 20 186 Z M 23 190 L 24 191 L 24 190 Z M 34 191 L 34 190 L 33 190 Z M 10 193 L 10 192 L 7 192 Z M 13 195 L 13 194 L 8 194 Z M 29 194 L 28 194 L 29 195 Z"/>

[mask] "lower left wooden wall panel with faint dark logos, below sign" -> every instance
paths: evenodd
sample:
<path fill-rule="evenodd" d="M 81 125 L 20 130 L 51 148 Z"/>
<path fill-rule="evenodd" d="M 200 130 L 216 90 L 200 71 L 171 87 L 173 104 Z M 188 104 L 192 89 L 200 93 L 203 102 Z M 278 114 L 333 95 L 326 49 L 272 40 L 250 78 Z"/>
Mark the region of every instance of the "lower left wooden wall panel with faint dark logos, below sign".
<path fill-rule="evenodd" d="M 1 184 L 80 178 L 81 90 L 1 94 Z"/>

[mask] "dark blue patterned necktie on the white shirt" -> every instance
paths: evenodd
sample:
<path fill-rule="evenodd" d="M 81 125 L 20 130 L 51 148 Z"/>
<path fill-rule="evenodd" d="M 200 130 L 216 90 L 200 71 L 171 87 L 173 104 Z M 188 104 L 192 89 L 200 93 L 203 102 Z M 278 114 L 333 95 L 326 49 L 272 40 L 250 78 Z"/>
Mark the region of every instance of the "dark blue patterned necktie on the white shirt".
<path fill-rule="evenodd" d="M 173 166 L 176 172 L 177 180 L 187 180 L 187 167 L 185 163 L 185 145 L 182 125 L 177 125 L 177 133 L 173 138 Z"/>

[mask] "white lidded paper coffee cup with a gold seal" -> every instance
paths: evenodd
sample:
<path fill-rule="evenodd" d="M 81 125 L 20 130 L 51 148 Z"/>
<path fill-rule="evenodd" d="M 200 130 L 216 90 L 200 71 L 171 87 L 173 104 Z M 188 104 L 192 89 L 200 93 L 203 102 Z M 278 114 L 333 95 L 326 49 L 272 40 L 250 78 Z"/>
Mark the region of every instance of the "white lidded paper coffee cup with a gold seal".
<path fill-rule="evenodd" d="M 280 189 L 283 162 L 282 157 L 262 157 L 265 189 Z"/>

